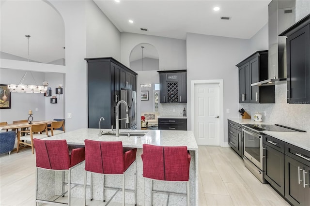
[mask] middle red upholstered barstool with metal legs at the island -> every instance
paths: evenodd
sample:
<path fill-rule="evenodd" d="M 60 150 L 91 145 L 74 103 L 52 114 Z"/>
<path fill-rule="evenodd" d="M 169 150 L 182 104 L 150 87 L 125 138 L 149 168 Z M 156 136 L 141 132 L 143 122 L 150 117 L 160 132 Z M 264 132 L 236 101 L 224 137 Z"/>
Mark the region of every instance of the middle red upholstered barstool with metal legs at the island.
<path fill-rule="evenodd" d="M 85 140 L 85 182 L 87 172 L 103 174 L 103 202 L 106 201 L 105 190 L 111 189 L 120 191 L 120 188 L 111 188 L 105 186 L 105 175 L 122 175 L 123 176 L 123 206 L 125 205 L 125 172 L 136 161 L 137 148 L 123 148 L 121 141 L 117 142 L 102 142 Z M 135 189 L 126 190 L 135 193 L 135 205 L 137 205 L 137 189 L 136 189 L 136 164 L 135 169 Z M 91 174 L 92 174 L 91 173 Z M 85 205 L 86 205 L 86 188 L 85 191 Z M 112 200 L 116 192 L 110 198 L 106 205 Z"/>

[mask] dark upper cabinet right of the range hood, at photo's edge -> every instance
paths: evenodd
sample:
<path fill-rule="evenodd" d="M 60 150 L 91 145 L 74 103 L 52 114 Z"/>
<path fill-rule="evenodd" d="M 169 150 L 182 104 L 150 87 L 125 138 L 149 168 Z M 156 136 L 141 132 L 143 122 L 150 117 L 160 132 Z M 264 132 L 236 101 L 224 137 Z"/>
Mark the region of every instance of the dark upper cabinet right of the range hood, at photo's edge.
<path fill-rule="evenodd" d="M 310 104 L 310 15 L 280 36 L 287 36 L 287 103 Z"/>

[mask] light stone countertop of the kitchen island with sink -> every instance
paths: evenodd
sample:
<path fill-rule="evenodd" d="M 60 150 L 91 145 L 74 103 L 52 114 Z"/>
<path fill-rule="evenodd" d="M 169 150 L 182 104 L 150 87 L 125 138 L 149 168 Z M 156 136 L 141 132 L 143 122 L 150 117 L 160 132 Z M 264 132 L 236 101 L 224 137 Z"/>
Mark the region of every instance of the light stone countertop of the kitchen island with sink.
<path fill-rule="evenodd" d="M 102 129 L 109 132 L 110 129 Z M 114 131 L 115 132 L 115 131 Z M 82 128 L 71 132 L 65 132 L 55 136 L 47 137 L 48 140 L 67 140 L 68 145 L 84 145 L 85 139 L 96 141 L 122 141 L 123 147 L 142 148 L 143 144 L 157 146 L 187 146 L 188 150 L 198 150 L 198 146 L 192 131 L 167 131 L 167 130 L 120 130 L 120 132 L 145 133 L 144 136 L 130 137 L 113 135 L 98 136 L 99 129 Z"/>

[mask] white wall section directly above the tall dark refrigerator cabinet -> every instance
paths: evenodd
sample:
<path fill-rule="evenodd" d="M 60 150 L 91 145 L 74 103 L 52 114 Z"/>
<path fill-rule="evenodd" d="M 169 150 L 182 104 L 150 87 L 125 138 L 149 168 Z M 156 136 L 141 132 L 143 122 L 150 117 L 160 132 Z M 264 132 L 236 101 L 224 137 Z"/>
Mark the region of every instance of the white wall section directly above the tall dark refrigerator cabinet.
<path fill-rule="evenodd" d="M 86 2 L 86 57 L 121 61 L 121 33 L 93 1 Z"/>

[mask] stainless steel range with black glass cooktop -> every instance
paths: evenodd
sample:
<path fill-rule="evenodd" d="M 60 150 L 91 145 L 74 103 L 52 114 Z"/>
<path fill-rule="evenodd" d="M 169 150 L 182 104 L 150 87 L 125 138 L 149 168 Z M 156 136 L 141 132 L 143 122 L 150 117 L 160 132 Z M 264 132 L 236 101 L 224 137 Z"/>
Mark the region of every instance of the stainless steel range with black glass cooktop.
<path fill-rule="evenodd" d="M 305 132 L 279 124 L 244 124 L 242 133 L 244 137 L 245 166 L 263 182 L 263 131 L 275 132 Z"/>

